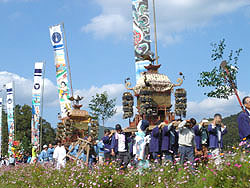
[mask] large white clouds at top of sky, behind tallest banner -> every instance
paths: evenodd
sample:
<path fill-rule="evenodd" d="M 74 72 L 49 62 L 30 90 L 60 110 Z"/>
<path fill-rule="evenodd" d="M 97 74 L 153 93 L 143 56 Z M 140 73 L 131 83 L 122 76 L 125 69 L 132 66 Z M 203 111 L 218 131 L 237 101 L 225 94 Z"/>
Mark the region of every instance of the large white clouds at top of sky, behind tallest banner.
<path fill-rule="evenodd" d="M 95 38 L 126 38 L 132 33 L 131 0 L 95 0 L 102 9 L 82 30 Z M 152 9 L 152 1 L 149 1 Z M 202 28 L 220 15 L 250 5 L 249 0 L 157 0 L 159 37 L 166 43 L 178 42 L 180 32 Z M 151 11 L 152 13 L 152 11 Z M 152 20 L 152 14 L 151 14 Z M 152 24 L 151 24 L 152 25 Z"/>

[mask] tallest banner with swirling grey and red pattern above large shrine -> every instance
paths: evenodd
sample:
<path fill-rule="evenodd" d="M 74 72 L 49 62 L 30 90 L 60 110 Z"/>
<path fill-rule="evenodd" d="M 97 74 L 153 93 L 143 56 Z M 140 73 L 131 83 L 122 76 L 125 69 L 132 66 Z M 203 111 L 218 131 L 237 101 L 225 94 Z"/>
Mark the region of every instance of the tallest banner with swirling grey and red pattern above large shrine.
<path fill-rule="evenodd" d="M 132 0 L 133 8 L 133 34 L 135 49 L 136 80 L 145 72 L 145 66 L 150 60 L 145 60 L 144 55 L 150 55 L 150 19 L 148 0 Z"/>

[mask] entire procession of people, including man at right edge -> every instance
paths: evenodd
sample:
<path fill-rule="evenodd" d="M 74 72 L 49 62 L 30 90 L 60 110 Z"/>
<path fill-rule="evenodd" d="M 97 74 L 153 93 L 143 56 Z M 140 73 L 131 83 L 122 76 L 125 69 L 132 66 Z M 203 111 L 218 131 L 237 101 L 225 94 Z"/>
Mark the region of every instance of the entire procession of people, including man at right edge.
<path fill-rule="evenodd" d="M 239 135 L 241 140 L 250 140 L 250 97 L 243 99 L 245 111 L 238 116 Z M 66 153 L 78 157 L 77 161 L 92 168 L 94 164 L 103 165 L 113 160 L 119 161 L 120 169 L 124 170 L 128 165 L 138 165 L 144 161 L 162 164 L 163 161 L 184 164 L 189 162 L 192 167 L 198 162 L 206 163 L 209 156 L 214 163 L 221 164 L 223 150 L 223 136 L 227 133 L 227 127 L 222 123 L 221 114 L 215 114 L 212 121 L 202 119 L 199 123 L 194 118 L 188 120 L 174 120 L 171 123 L 158 121 L 152 130 L 149 130 L 149 122 L 141 120 L 137 125 L 137 131 L 123 131 L 120 124 L 115 130 L 104 130 L 104 137 L 96 140 L 91 135 L 84 139 L 89 143 L 89 152 L 82 150 L 79 154 L 79 144 L 72 144 L 65 148 L 59 141 L 56 146 L 44 145 L 38 154 L 37 146 L 32 148 L 32 156 L 23 155 L 21 159 L 11 155 L 2 158 L 1 165 L 14 166 L 17 162 L 23 163 L 51 163 L 60 169 L 65 167 L 70 160 Z M 88 156 L 87 156 L 88 155 Z"/>

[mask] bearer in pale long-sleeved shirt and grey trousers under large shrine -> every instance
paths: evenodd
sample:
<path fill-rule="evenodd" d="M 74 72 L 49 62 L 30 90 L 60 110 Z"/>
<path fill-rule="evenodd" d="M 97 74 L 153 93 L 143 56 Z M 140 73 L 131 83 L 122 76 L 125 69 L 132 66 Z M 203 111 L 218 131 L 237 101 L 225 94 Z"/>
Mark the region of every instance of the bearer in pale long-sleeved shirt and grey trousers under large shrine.
<path fill-rule="evenodd" d="M 179 152 L 180 152 L 180 164 L 184 164 L 185 158 L 188 159 L 190 163 L 194 163 L 194 131 L 192 127 L 194 126 L 195 119 L 191 118 L 187 121 L 182 121 L 178 125 L 179 131 Z"/>

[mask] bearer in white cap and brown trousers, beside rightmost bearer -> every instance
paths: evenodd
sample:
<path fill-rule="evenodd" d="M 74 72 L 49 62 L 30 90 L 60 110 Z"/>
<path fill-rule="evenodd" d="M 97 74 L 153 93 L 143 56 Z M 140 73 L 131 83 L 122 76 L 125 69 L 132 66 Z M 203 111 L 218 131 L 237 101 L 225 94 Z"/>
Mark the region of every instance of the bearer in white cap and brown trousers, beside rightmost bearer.
<path fill-rule="evenodd" d="M 198 125 L 193 127 L 194 130 L 194 140 L 195 140 L 195 154 L 197 157 L 201 157 L 202 160 L 207 160 L 207 151 L 208 151 L 208 131 L 207 127 L 208 120 L 203 119 Z"/>

